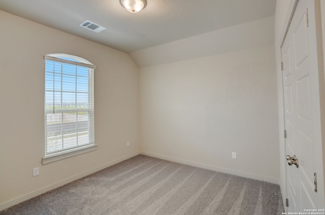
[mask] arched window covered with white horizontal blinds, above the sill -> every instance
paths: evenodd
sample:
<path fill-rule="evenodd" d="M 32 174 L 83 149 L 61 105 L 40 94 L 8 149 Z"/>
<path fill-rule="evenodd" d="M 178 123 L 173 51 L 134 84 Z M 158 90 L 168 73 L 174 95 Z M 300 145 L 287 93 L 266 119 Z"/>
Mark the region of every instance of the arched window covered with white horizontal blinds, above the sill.
<path fill-rule="evenodd" d="M 72 55 L 44 59 L 45 157 L 94 145 L 95 66 Z"/>

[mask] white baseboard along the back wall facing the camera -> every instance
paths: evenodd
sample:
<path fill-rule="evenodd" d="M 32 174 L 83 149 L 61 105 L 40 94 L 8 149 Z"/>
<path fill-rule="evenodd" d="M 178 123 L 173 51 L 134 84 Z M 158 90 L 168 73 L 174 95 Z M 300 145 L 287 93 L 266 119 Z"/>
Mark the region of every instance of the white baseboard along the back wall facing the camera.
<path fill-rule="evenodd" d="M 141 154 L 150 156 L 150 157 L 154 157 L 154 158 L 160 158 L 160 159 L 167 160 L 167 161 L 173 161 L 173 162 L 177 162 L 177 163 L 181 163 L 181 164 L 186 164 L 186 165 L 190 165 L 190 166 L 194 166 L 194 167 L 200 167 L 203 169 L 214 170 L 214 171 L 218 171 L 218 172 L 228 173 L 228 174 L 232 174 L 232 175 L 238 175 L 238 176 L 252 178 L 252 179 L 256 179 L 256 180 L 264 180 L 264 181 L 267 181 L 270 183 L 276 183 L 277 185 L 279 184 L 278 178 L 272 178 L 272 177 L 268 177 L 268 176 L 257 175 L 257 174 L 233 170 L 233 169 L 226 169 L 226 168 L 222 168 L 222 167 L 212 166 L 212 165 L 208 165 L 208 164 L 201 164 L 201 163 L 197 163 L 197 162 L 182 160 L 182 159 L 178 159 L 178 158 L 172 158 L 172 157 L 168 157 L 168 156 L 156 155 L 154 153 L 150 153 L 150 152 L 146 152 L 146 151 L 141 151 Z"/>

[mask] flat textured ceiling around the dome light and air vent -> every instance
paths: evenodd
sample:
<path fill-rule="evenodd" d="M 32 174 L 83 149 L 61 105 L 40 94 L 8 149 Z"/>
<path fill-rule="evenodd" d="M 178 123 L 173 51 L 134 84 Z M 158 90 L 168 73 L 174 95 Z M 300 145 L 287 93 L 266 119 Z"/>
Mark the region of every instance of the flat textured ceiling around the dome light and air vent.
<path fill-rule="evenodd" d="M 0 10 L 124 52 L 272 16 L 276 0 L 147 0 L 139 13 L 119 0 L 0 0 Z M 107 29 L 80 27 L 85 20 Z"/>

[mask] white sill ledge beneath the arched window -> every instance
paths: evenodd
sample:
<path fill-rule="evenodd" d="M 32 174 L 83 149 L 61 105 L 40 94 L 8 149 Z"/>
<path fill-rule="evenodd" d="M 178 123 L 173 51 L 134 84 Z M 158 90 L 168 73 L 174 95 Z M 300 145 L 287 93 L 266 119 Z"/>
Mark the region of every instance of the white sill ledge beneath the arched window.
<path fill-rule="evenodd" d="M 98 145 L 91 145 L 91 146 L 86 146 L 86 147 L 82 147 L 82 148 L 77 148 L 71 151 L 66 151 L 66 152 L 62 152 L 56 155 L 50 155 L 50 156 L 45 156 L 44 158 L 42 158 L 42 164 L 49 164 L 55 161 L 59 161 L 59 160 L 63 160 L 66 158 L 71 158 L 77 155 L 81 155 L 83 153 L 87 153 L 90 151 L 94 151 L 97 150 L 97 146 Z"/>

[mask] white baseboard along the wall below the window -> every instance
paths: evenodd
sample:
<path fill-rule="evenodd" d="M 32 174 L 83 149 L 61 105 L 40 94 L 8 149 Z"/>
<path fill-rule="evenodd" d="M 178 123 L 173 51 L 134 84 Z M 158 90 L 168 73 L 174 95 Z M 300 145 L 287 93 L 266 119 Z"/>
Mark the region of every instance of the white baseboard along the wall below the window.
<path fill-rule="evenodd" d="M 122 158 L 116 159 L 114 161 L 111 161 L 111 162 L 109 162 L 107 164 L 98 166 L 96 168 L 87 170 L 85 172 L 81 172 L 81 173 L 79 173 L 77 175 L 74 175 L 74 176 L 71 176 L 69 178 L 66 178 L 66 179 L 57 181 L 55 183 L 52 183 L 49 186 L 46 186 L 44 188 L 40 188 L 38 190 L 35 190 L 35 191 L 30 192 L 30 193 L 24 194 L 22 196 L 19 196 L 19 197 L 15 198 L 15 199 L 12 199 L 12 200 L 7 201 L 7 202 L 4 202 L 4 203 L 0 204 L 0 211 L 6 209 L 8 207 L 11 207 L 11 206 L 13 206 L 15 204 L 18 204 L 20 202 L 26 201 L 26 200 L 28 200 L 28 199 L 30 199 L 32 197 L 39 196 L 39 195 L 41 195 L 43 193 L 46 193 L 46 192 L 48 192 L 50 190 L 53 190 L 55 188 L 61 187 L 63 185 L 66 185 L 67 183 L 70 183 L 70 182 L 72 182 L 74 180 L 77 180 L 79 178 L 85 177 L 87 175 L 90 175 L 92 173 L 95 173 L 97 171 L 100 171 L 102 169 L 105 169 L 107 167 L 113 166 L 114 164 L 117 164 L 117 163 L 122 162 L 124 160 L 127 160 L 129 158 L 135 157 L 137 155 L 140 155 L 140 151 L 137 151 L 135 153 L 132 153 L 131 155 L 127 155 L 127 156 L 124 156 Z"/>

